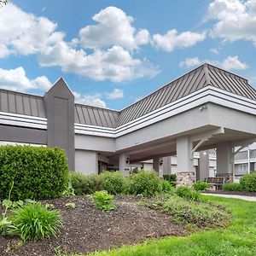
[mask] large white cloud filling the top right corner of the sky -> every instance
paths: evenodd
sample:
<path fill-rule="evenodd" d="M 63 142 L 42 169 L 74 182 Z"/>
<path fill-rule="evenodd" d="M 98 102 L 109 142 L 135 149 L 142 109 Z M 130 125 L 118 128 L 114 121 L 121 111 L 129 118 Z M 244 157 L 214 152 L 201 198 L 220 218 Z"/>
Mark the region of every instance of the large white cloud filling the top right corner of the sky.
<path fill-rule="evenodd" d="M 212 27 L 213 38 L 226 41 L 245 39 L 256 46 L 256 1 L 215 0 L 208 7 L 209 20 L 217 20 Z"/>

